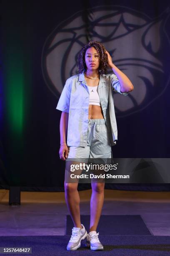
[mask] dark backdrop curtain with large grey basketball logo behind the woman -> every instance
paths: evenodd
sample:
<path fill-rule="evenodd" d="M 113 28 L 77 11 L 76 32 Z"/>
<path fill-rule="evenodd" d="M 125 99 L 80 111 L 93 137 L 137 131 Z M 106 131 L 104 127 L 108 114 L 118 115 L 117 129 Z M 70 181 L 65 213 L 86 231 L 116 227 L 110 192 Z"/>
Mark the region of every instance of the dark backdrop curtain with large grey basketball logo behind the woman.
<path fill-rule="evenodd" d="M 169 158 L 169 7 L 168 0 L 76 0 L 60 4 L 57 1 L 2 1 L 1 188 L 16 185 L 28 191 L 63 190 L 65 163 L 58 153 L 61 112 L 55 108 L 65 79 L 77 73 L 76 54 L 70 56 L 67 49 L 74 41 L 72 49 L 78 51 L 89 39 L 96 38 L 108 49 L 115 33 L 117 36 L 112 41 L 115 48 L 110 47 L 113 62 L 115 59 L 115 65 L 128 75 L 135 90 L 125 102 L 122 95 L 115 95 L 118 141 L 112 147 L 113 157 Z M 117 10 L 116 22 L 110 16 L 103 21 L 109 9 Z M 117 26 L 118 15 L 128 20 L 125 24 L 122 18 L 125 32 Z M 83 33 L 78 41 L 74 23 L 77 17 L 82 17 L 82 24 L 77 24 L 82 32 L 77 33 Z M 132 30 L 133 37 L 130 37 Z M 57 33 L 60 40 L 62 36 L 66 38 L 65 33 L 72 33 L 72 38 L 69 34 L 66 44 L 61 41 L 59 44 L 55 42 L 59 37 L 55 37 Z M 116 47 L 120 42 L 118 55 Z M 134 49 L 131 58 L 127 57 L 128 49 Z M 85 189 L 90 185 L 79 187 Z M 106 188 L 163 191 L 170 190 L 170 185 L 106 184 Z"/>

